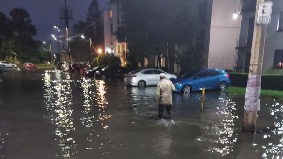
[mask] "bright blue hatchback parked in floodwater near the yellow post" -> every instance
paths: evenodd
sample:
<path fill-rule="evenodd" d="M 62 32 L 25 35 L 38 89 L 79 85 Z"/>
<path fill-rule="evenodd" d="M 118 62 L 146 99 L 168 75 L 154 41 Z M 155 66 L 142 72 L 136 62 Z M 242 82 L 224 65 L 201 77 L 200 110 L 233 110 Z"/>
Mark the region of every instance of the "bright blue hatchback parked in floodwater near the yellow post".
<path fill-rule="evenodd" d="M 177 79 L 172 79 L 176 91 L 190 93 L 191 91 L 209 89 L 226 90 L 230 86 L 229 74 L 222 69 L 203 69 L 196 73 L 187 72 Z"/>

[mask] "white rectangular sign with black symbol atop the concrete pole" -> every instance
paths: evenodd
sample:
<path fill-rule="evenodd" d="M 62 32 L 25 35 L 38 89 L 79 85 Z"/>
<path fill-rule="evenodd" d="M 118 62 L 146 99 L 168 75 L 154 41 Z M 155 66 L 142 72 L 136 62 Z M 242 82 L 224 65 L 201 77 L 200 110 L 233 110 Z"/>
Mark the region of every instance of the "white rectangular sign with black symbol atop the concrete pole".
<path fill-rule="evenodd" d="M 272 2 L 264 2 L 259 4 L 259 12 L 257 14 L 256 24 L 269 24 L 272 13 Z"/>

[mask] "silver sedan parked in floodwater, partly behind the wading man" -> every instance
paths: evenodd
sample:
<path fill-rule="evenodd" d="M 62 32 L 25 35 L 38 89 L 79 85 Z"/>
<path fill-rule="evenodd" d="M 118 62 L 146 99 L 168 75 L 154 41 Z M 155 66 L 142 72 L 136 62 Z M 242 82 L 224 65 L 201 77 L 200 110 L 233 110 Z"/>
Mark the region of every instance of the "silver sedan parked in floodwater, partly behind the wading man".
<path fill-rule="evenodd" d="M 169 74 L 160 69 L 137 69 L 126 74 L 125 82 L 128 85 L 138 87 L 157 85 L 160 81 L 159 74 L 161 73 L 164 73 L 168 80 L 177 78 L 175 74 Z"/>

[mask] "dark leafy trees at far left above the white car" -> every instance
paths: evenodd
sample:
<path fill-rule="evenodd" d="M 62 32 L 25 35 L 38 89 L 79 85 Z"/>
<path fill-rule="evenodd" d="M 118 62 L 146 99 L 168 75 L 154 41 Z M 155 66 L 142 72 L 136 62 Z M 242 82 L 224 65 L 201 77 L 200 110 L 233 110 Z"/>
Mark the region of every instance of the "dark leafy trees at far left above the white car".
<path fill-rule="evenodd" d="M 41 42 L 32 37 L 37 34 L 29 13 L 14 8 L 9 17 L 0 12 L 0 59 L 19 59 L 21 62 L 39 62 Z"/>

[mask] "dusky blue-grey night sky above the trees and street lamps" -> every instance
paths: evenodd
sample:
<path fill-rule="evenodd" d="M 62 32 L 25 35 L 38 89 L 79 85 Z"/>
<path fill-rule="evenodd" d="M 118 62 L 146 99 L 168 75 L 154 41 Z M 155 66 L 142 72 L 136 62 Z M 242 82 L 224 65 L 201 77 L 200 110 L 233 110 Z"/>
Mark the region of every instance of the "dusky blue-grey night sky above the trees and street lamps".
<path fill-rule="evenodd" d="M 73 34 L 73 24 L 79 20 L 85 20 L 88 6 L 92 0 L 67 0 L 67 6 L 73 10 L 74 20 L 70 21 L 70 34 Z M 100 9 L 108 7 L 108 0 L 97 0 Z M 64 27 L 60 22 L 59 9 L 64 6 L 64 0 L 0 0 L 0 11 L 9 15 L 11 9 L 23 8 L 29 12 L 32 24 L 37 29 L 34 39 L 46 41 L 50 34 L 61 35 L 53 26 Z"/>

